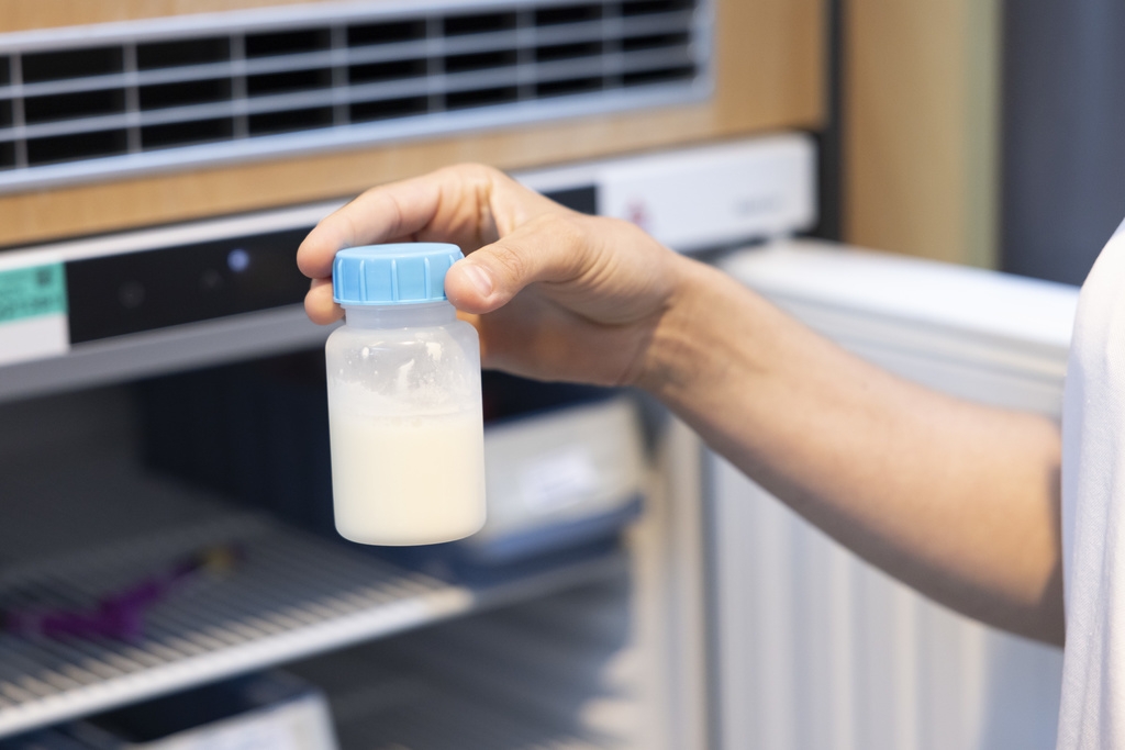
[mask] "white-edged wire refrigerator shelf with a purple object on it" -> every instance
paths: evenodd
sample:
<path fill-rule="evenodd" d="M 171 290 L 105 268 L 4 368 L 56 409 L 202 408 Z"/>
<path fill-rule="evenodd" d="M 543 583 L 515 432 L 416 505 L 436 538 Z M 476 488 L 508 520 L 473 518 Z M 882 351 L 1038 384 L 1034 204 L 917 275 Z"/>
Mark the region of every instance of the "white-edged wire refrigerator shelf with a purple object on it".
<path fill-rule="evenodd" d="M 474 589 L 245 513 L 130 544 L 0 569 L 0 608 L 91 612 L 201 549 L 236 550 L 144 613 L 138 638 L 0 633 L 0 737 L 549 593 L 620 569 L 601 560 Z"/>

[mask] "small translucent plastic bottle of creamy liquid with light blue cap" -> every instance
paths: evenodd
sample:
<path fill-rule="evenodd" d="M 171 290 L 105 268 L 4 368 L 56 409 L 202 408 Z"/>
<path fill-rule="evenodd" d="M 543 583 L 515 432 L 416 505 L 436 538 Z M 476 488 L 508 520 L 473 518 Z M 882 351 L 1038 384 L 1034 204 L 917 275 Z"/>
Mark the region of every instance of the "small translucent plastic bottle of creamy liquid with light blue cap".
<path fill-rule="evenodd" d="M 433 544 L 485 522 L 480 349 L 446 299 L 456 245 L 336 254 L 328 425 L 336 531 L 364 544 Z"/>

